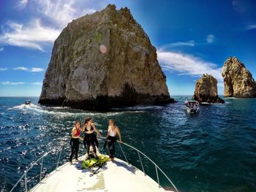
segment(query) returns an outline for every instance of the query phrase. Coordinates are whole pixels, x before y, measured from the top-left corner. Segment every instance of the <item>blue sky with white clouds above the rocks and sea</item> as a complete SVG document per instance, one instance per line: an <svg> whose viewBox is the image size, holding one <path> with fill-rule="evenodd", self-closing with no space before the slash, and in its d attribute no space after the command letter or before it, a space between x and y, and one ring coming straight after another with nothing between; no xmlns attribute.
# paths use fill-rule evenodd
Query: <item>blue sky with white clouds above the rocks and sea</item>
<svg viewBox="0 0 256 192"><path fill-rule="evenodd" d="M72 19L116 4L128 7L157 47L170 95L192 95L204 73L218 80L237 56L256 77L253 0L0 0L0 96L39 96L53 42Z"/></svg>

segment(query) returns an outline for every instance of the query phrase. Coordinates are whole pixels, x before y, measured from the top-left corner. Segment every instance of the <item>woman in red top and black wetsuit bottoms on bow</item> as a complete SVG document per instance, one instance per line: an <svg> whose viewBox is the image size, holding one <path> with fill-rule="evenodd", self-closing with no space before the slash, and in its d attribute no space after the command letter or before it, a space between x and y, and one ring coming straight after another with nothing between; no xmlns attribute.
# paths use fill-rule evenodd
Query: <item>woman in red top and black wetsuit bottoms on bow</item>
<svg viewBox="0 0 256 192"><path fill-rule="evenodd" d="M80 128L80 121L75 121L75 127L72 128L72 137L70 139L70 145L71 145L71 155L69 157L69 162L72 164L72 158L73 155L75 155L75 160L78 161L78 150L79 150L79 139L83 141L83 137L80 137L80 131L82 129Z"/></svg>

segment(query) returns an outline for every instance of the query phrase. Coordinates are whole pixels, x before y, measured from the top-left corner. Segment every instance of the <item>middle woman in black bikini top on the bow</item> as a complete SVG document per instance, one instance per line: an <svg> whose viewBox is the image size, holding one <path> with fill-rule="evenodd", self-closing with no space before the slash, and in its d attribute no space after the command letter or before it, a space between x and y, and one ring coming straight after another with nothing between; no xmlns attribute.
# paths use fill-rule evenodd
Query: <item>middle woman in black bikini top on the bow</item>
<svg viewBox="0 0 256 192"><path fill-rule="evenodd" d="M102 134L99 133L91 118L86 118L85 122L83 123L82 130L86 132L83 139L83 145L86 148L87 154L89 155L90 147L92 147L94 155L97 156L97 150L95 145L97 146L97 148L99 148L99 142L96 135L94 134L94 131L100 137L102 137Z"/></svg>

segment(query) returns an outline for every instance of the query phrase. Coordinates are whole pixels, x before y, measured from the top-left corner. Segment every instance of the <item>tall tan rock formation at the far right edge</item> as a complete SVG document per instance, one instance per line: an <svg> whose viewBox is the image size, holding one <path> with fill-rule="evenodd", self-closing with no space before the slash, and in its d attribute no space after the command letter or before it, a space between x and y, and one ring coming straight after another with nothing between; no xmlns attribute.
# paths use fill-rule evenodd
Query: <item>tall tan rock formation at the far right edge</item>
<svg viewBox="0 0 256 192"><path fill-rule="evenodd" d="M256 97L256 82L238 58L227 58L222 68L222 77L225 97Z"/></svg>

